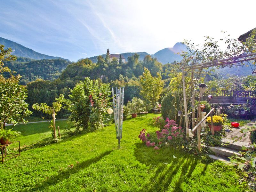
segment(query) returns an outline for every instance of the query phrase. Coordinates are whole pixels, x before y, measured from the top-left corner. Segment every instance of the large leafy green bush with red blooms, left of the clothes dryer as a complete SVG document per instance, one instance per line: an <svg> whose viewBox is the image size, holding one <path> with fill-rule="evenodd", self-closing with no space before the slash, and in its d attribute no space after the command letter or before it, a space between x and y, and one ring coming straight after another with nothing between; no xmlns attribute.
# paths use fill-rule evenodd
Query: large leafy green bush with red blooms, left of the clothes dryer
<svg viewBox="0 0 256 192"><path fill-rule="evenodd" d="M102 125L102 119L107 112L110 101L109 84L101 84L86 77L83 82L76 84L70 100L66 100L69 119L75 123L79 130L96 130Z"/></svg>

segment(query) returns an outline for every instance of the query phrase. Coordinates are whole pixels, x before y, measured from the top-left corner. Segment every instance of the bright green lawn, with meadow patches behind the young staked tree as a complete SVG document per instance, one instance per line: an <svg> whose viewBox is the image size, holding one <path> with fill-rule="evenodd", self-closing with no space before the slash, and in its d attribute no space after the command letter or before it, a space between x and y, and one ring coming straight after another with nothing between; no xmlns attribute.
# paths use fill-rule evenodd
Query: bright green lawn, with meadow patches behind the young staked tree
<svg viewBox="0 0 256 192"><path fill-rule="evenodd" d="M118 150L114 124L29 149L1 164L1 191L246 191L240 172L221 162L170 147L154 151L142 144L142 128L155 131L149 117L123 125ZM62 130L68 127L60 122ZM48 124L17 126L21 145L50 137ZM45 134L45 135L44 135ZM176 158L174 158L176 156Z"/></svg>

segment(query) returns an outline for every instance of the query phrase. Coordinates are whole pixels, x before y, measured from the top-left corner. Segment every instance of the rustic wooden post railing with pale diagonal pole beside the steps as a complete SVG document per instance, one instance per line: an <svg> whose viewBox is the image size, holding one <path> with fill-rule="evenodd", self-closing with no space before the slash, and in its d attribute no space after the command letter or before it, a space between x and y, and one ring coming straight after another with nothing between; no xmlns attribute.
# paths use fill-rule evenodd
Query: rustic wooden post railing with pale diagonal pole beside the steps
<svg viewBox="0 0 256 192"><path fill-rule="evenodd" d="M198 105L197 107L197 114L198 114L198 124L192 129L191 132L197 133L197 148L199 153L201 153L201 124L204 122L204 120L210 115L211 116L211 130L212 135L214 135L214 129L213 129L213 120L212 120L212 111L214 108L210 110L210 112L202 119L202 113L201 113L201 105Z"/></svg>

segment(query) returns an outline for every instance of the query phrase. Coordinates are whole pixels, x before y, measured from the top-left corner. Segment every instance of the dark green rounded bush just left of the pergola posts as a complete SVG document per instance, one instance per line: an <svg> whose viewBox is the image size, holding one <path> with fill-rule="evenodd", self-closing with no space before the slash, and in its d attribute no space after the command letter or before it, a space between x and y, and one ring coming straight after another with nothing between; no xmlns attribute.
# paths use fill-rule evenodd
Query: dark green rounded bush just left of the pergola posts
<svg viewBox="0 0 256 192"><path fill-rule="evenodd" d="M178 110L180 110L179 98L175 98L171 92L165 94L162 100L161 113L164 119L176 119Z"/></svg>

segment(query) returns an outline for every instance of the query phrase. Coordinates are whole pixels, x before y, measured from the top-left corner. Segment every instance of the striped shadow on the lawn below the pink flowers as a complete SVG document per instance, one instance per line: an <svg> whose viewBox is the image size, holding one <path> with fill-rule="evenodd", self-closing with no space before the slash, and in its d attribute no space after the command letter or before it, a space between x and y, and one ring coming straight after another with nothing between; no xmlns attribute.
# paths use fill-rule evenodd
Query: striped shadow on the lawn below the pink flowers
<svg viewBox="0 0 256 192"><path fill-rule="evenodd" d="M174 158L173 155L177 158ZM155 151L152 147L147 148L142 143L136 144L134 156L138 161L146 164L148 169L156 170L139 191L165 191L170 187L173 188L173 191L183 191L182 183L191 177L198 163L197 157L170 149L170 147ZM207 165L202 174L206 168Z"/></svg>

